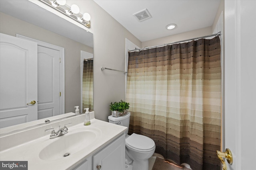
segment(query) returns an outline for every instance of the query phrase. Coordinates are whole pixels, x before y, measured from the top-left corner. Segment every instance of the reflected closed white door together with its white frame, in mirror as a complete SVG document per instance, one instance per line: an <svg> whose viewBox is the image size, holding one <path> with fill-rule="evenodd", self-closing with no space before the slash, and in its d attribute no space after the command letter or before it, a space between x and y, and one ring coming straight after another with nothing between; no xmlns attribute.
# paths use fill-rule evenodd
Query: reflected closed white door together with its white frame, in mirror
<svg viewBox="0 0 256 170"><path fill-rule="evenodd" d="M65 113L64 48L23 35L38 44L38 119Z"/></svg>

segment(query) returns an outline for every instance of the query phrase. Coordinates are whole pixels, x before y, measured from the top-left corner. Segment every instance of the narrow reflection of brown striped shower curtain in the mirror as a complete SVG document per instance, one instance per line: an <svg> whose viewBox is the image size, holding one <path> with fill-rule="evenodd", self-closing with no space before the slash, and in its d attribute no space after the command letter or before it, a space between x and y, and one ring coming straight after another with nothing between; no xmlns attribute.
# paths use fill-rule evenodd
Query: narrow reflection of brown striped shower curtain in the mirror
<svg viewBox="0 0 256 170"><path fill-rule="evenodd" d="M93 110L93 59L84 60L82 95L82 110Z"/></svg>

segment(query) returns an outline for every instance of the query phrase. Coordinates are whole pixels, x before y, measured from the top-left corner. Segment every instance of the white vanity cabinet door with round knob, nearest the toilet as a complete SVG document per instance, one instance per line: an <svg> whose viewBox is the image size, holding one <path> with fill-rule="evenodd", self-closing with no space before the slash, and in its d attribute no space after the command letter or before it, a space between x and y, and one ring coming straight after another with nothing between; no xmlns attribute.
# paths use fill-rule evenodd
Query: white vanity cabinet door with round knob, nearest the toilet
<svg viewBox="0 0 256 170"><path fill-rule="evenodd" d="M125 169L125 135L121 135L104 149L92 156L93 170Z"/></svg>

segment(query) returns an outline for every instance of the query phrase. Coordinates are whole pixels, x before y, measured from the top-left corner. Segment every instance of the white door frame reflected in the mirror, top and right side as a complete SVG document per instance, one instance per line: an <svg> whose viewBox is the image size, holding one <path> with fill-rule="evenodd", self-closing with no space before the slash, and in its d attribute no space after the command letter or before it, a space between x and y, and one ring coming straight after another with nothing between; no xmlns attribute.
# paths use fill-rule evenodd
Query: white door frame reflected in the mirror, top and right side
<svg viewBox="0 0 256 170"><path fill-rule="evenodd" d="M65 48L64 47L59 47L57 45L53 45L50 43L46 43L43 41L39 41L37 39L33 39L30 37L26 37L24 35L20 35L20 34L16 34L16 37L18 38L22 38L22 39L27 39L30 41L34 41L37 43L37 45L42 46L42 47L46 47L46 48L50 48L50 49L54 49L57 51L60 51L60 92L61 92L61 96L60 96L60 114L64 114L65 113Z"/></svg>

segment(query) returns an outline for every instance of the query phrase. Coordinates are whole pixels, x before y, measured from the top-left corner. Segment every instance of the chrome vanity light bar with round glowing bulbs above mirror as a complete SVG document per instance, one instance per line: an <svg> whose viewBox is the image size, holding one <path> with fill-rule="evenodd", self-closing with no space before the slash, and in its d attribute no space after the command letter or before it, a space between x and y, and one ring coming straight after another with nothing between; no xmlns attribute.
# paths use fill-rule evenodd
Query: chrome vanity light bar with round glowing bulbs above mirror
<svg viewBox="0 0 256 170"><path fill-rule="evenodd" d="M71 7L66 4L66 0L40 0L45 4L51 6L52 8L58 10L62 14L72 18L73 20L78 21L87 28L91 27L91 16L88 13L83 15L80 12L79 7L76 4L73 4Z"/></svg>

